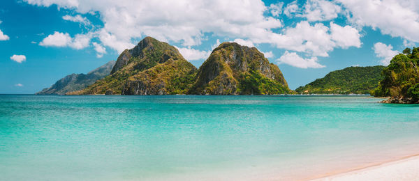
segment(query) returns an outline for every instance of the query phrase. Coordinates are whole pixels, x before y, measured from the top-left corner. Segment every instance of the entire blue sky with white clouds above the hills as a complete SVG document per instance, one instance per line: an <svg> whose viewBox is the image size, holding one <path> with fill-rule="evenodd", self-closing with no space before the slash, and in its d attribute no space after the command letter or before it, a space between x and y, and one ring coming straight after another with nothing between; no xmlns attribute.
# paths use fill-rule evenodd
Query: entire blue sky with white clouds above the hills
<svg viewBox="0 0 419 181"><path fill-rule="evenodd" d="M0 93L36 93L152 36L197 68L221 42L256 47L295 89L388 65L419 42L417 0L2 0Z"/></svg>

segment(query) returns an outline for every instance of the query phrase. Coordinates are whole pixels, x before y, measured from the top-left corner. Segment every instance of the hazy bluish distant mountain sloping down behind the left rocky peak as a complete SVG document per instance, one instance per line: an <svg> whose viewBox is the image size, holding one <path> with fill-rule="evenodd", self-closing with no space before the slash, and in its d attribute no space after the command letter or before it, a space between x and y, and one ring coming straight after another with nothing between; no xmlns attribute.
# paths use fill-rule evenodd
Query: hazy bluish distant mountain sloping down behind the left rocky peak
<svg viewBox="0 0 419 181"><path fill-rule="evenodd" d="M44 88L42 91L36 93L37 95L64 95L71 91L80 91L91 84L94 84L98 79L102 79L107 76L112 67L115 65L115 61L110 61L105 65L102 65L95 70L87 74L69 74L66 77L59 79L50 88Z"/></svg>

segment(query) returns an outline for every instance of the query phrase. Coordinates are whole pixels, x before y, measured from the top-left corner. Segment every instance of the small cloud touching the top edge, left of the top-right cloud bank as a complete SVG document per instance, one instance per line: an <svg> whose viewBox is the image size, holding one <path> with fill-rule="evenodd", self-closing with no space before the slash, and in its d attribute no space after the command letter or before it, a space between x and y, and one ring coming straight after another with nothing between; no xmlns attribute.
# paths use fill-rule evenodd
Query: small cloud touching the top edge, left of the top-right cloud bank
<svg viewBox="0 0 419 181"><path fill-rule="evenodd" d="M308 0L302 17L306 17L309 22L328 21L335 19L339 13L341 13L341 6L332 1Z"/></svg>

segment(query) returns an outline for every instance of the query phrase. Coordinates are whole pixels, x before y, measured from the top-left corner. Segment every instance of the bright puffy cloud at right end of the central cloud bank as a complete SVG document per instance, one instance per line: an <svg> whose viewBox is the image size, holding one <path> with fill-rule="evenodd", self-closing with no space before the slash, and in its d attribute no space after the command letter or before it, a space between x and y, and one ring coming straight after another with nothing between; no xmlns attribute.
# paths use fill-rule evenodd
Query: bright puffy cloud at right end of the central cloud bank
<svg viewBox="0 0 419 181"><path fill-rule="evenodd" d="M339 26L330 22L330 31L332 32L332 40L337 46L342 48L361 47L360 33L352 26Z"/></svg>

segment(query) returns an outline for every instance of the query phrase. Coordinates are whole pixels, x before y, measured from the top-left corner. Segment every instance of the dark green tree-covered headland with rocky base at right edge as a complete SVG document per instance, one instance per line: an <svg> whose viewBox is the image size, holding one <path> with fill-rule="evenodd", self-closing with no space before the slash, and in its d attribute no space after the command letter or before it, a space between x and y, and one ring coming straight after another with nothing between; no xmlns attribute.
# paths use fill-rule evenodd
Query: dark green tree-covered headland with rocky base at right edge
<svg viewBox="0 0 419 181"><path fill-rule="evenodd" d="M419 47L403 51L392 58L382 72L378 88L372 95L388 97L385 103L419 104Z"/></svg>

